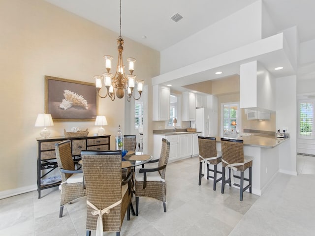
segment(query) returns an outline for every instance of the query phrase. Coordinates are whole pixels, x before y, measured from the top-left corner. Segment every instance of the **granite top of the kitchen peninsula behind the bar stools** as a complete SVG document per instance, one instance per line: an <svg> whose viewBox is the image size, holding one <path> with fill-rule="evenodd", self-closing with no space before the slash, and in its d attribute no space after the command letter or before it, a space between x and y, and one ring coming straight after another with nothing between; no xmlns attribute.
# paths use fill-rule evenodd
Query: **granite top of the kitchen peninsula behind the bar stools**
<svg viewBox="0 0 315 236"><path fill-rule="evenodd" d="M225 137L224 137L225 138ZM243 135L238 134L235 138L228 138L228 139L238 139L244 140L244 146L252 146L252 147L259 147L259 148L274 148L283 142L287 141L289 138L277 138L275 135L267 135L267 134L250 134L250 135ZM221 137L217 137L217 142L221 142Z"/></svg>

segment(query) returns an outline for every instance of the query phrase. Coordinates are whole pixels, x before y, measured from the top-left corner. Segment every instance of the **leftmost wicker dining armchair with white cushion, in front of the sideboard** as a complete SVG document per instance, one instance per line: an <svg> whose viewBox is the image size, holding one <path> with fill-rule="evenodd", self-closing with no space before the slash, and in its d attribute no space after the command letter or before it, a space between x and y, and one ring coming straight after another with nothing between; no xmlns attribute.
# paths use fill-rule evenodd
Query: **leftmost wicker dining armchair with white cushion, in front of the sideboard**
<svg viewBox="0 0 315 236"><path fill-rule="evenodd" d="M55 144L56 159L62 179L60 184L61 200L59 217L63 217L63 206L86 196L82 170L75 170L71 153L71 141L64 140Z"/></svg>

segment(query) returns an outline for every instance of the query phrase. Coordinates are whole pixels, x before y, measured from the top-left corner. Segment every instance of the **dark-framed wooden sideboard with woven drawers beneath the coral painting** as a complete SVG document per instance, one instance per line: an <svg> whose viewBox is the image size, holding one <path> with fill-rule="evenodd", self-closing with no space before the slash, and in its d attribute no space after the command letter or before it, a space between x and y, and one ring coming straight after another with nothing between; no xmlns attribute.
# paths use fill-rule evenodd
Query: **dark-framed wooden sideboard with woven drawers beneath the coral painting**
<svg viewBox="0 0 315 236"><path fill-rule="evenodd" d="M109 150L110 135L87 136L87 137L50 137L47 139L37 138L37 190L38 198L40 191L46 188L59 186L60 181L52 184L41 184L41 180L49 173L58 168L55 152L55 144L63 140L71 140L71 151L75 163L81 159L81 150ZM45 171L44 171L45 170Z"/></svg>

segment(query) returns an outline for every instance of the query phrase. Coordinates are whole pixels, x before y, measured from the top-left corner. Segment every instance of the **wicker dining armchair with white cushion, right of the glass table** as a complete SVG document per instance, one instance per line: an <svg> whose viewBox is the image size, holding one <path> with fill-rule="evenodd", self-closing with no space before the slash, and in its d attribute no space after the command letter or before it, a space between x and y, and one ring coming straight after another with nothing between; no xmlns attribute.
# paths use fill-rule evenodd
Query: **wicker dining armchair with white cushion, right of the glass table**
<svg viewBox="0 0 315 236"><path fill-rule="evenodd" d="M139 197L151 197L162 201L164 212L166 212L165 172L169 157L169 145L168 140L162 139L159 159L149 162L158 162L157 168L135 170L136 215L138 215Z"/></svg>

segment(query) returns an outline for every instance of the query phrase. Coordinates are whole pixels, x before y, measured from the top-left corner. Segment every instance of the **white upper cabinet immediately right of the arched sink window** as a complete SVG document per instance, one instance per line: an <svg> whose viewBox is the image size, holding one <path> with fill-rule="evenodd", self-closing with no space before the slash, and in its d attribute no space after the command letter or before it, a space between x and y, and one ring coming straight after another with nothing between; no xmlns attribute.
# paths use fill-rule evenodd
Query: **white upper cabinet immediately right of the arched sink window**
<svg viewBox="0 0 315 236"><path fill-rule="evenodd" d="M191 121L196 119L196 96L192 92L182 93L182 120Z"/></svg>

